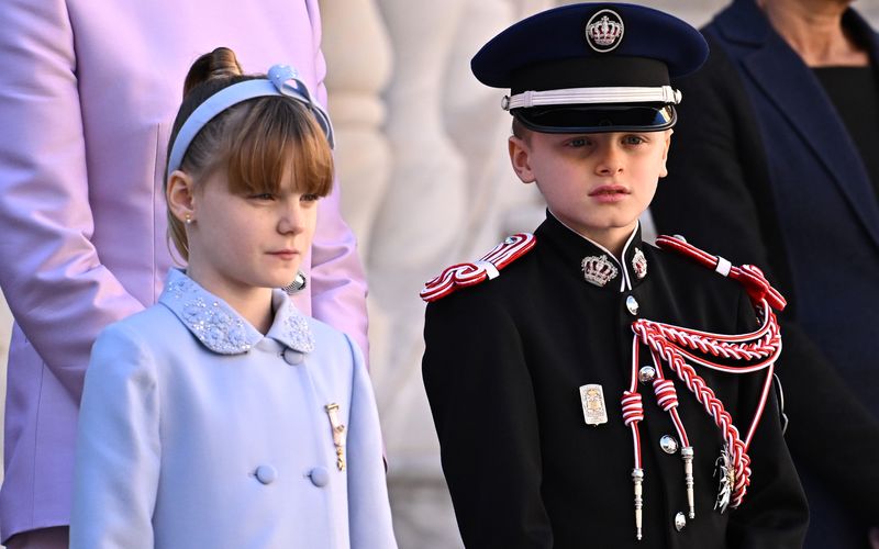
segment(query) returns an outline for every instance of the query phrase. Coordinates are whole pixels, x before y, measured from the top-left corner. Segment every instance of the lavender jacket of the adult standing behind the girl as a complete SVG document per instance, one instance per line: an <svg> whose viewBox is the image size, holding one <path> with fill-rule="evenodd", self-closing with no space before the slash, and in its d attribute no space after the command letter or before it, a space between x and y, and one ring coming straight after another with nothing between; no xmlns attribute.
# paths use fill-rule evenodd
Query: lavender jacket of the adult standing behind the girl
<svg viewBox="0 0 879 549"><path fill-rule="evenodd" d="M108 324L171 266L162 179L192 61L298 68L326 103L316 0L0 0L0 287L9 355L0 540L68 524L78 403ZM366 287L338 194L323 200L300 311L366 350ZM307 292L305 292L307 293Z"/></svg>

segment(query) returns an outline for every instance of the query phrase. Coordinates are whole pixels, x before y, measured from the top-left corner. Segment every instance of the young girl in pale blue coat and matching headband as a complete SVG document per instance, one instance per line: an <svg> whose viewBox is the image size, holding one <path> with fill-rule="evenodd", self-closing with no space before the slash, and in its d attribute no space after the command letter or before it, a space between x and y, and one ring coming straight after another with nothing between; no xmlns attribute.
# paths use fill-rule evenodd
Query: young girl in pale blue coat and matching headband
<svg viewBox="0 0 879 549"><path fill-rule="evenodd" d="M79 418L71 548L393 548L358 347L285 291L333 181L296 72L200 57L168 148L158 303L108 327Z"/></svg>

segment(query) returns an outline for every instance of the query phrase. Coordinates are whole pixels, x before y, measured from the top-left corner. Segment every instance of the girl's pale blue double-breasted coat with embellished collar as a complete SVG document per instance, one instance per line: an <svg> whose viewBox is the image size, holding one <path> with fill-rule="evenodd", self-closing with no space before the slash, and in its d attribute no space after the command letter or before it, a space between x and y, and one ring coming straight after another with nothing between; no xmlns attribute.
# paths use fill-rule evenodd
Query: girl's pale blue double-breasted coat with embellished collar
<svg viewBox="0 0 879 549"><path fill-rule="evenodd" d="M86 374L70 547L394 548L371 385L341 332L276 290L262 335L171 270ZM324 406L347 427L340 471Z"/></svg>

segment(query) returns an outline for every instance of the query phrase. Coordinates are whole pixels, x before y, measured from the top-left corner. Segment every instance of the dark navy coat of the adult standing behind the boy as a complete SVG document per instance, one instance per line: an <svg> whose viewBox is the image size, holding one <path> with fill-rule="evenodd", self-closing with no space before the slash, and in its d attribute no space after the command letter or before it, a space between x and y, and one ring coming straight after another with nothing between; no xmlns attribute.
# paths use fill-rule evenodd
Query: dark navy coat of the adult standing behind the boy
<svg viewBox="0 0 879 549"><path fill-rule="evenodd" d="M877 34L852 10L844 24L876 67ZM806 547L866 547L879 524L879 203L820 81L753 0L703 32L711 57L675 82L683 101L652 212L663 233L760 266L788 298L779 376Z"/></svg>

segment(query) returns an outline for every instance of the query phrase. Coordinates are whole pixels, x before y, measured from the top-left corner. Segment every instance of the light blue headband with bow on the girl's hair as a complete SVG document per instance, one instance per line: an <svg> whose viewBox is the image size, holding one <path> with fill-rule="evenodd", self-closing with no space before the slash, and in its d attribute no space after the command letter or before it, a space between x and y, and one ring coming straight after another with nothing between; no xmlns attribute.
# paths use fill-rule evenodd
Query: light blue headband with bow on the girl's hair
<svg viewBox="0 0 879 549"><path fill-rule="evenodd" d="M304 104L314 113L318 124L321 125L323 133L326 135L326 141L330 142L330 147L333 147L335 143L330 115L316 101L311 99L308 87L297 77L296 70L287 65L275 65L268 69L267 76L268 79L245 80L223 88L192 111L192 114L186 119L186 122L177 133L177 138L174 141L174 147L171 147L171 154L168 158L168 171L165 177L169 178L174 170L180 168L189 145L208 122L230 107L254 98L286 96Z"/></svg>

